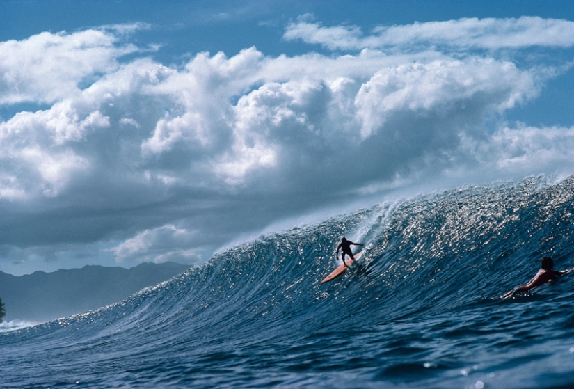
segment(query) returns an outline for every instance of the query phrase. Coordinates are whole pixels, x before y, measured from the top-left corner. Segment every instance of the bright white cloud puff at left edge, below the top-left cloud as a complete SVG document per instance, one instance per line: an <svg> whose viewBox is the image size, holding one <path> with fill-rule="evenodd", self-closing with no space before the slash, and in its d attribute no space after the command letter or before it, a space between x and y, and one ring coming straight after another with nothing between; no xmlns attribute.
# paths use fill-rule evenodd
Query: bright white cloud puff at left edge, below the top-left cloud
<svg viewBox="0 0 574 389"><path fill-rule="evenodd" d="M109 118L99 111L81 115L69 100L0 122L0 174L12 177L0 184L0 190L10 198L58 195L75 173L90 167L90 159L70 143L102 127L109 127Z"/></svg>

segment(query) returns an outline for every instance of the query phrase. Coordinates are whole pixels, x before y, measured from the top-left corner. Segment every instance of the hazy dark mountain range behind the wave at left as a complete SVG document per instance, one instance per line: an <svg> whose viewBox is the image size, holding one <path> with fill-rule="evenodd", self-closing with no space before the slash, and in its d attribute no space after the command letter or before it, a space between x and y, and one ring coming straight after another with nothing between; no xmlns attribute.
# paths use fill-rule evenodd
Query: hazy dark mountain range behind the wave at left
<svg viewBox="0 0 574 389"><path fill-rule="evenodd" d="M122 301L139 290L177 276L189 265L143 263L131 269L85 266L13 276L0 271L4 321L49 321Z"/></svg>

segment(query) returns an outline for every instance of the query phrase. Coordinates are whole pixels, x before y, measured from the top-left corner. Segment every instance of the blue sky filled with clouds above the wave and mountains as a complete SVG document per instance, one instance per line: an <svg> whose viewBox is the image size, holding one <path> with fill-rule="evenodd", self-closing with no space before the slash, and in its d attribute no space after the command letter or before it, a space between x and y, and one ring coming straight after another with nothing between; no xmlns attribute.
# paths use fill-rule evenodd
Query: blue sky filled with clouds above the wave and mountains
<svg viewBox="0 0 574 389"><path fill-rule="evenodd" d="M3 0L0 271L568 177L573 67L569 0Z"/></svg>

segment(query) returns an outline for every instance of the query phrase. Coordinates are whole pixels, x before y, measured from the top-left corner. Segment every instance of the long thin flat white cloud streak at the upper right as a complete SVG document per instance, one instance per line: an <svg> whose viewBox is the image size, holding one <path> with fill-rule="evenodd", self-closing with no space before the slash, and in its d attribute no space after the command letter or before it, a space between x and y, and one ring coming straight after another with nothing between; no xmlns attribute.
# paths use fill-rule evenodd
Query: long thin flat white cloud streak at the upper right
<svg viewBox="0 0 574 389"><path fill-rule="evenodd" d="M425 22L406 26L379 26L364 35L357 26L324 27L308 18L289 24L283 38L303 40L328 49L360 50L417 45L447 45L484 49L531 46L571 47L574 22L523 16L518 19L463 18L445 22Z"/></svg>

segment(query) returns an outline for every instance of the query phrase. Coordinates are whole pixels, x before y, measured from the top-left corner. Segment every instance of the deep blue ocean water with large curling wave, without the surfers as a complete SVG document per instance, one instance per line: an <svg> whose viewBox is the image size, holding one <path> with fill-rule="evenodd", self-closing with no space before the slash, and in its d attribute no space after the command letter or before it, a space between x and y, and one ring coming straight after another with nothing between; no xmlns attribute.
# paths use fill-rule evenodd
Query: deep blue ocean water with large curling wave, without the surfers
<svg viewBox="0 0 574 389"><path fill-rule="evenodd" d="M574 177L382 201L0 333L1 388L574 388ZM365 243L337 267L342 236ZM10 328L8 328L10 329Z"/></svg>

